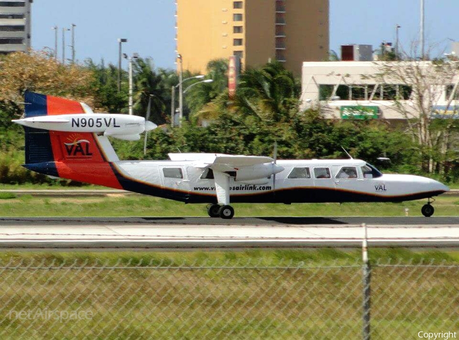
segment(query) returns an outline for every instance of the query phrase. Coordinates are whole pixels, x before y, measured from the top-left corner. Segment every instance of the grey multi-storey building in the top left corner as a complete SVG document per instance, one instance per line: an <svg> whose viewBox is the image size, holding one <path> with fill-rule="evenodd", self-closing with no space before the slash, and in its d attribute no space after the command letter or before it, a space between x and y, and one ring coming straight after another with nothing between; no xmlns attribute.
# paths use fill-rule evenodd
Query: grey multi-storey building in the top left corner
<svg viewBox="0 0 459 340"><path fill-rule="evenodd" d="M0 53L29 50L32 2L33 0L0 1Z"/></svg>

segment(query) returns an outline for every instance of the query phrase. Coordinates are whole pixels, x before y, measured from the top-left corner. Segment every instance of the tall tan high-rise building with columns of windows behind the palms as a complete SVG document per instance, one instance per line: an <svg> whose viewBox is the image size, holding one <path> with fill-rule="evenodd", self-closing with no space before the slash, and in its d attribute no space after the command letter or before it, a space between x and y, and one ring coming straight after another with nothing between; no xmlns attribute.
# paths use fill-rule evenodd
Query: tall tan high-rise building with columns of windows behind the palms
<svg viewBox="0 0 459 340"><path fill-rule="evenodd" d="M176 0L176 52L185 70L238 55L242 68L269 60L300 74L328 55L328 0Z"/></svg>

